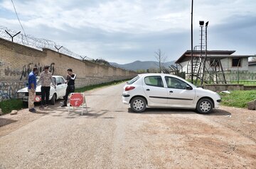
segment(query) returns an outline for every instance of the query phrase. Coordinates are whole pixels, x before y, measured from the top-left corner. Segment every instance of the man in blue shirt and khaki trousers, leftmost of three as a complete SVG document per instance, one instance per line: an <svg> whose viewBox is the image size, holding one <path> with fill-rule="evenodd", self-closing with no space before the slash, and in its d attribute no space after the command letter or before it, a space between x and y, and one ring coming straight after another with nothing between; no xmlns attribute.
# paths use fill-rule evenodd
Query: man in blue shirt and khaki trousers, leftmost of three
<svg viewBox="0 0 256 169"><path fill-rule="evenodd" d="M28 110L30 112L36 112L33 104L36 97L36 74L38 74L38 68L34 67L28 75Z"/></svg>

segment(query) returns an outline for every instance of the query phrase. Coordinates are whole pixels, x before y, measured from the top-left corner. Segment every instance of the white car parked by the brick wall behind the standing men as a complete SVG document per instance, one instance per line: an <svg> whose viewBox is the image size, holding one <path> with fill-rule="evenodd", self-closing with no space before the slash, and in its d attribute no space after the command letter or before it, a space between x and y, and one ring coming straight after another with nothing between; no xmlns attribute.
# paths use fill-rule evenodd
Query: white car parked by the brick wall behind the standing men
<svg viewBox="0 0 256 169"><path fill-rule="evenodd" d="M37 82L38 82L38 78ZM63 98L65 96L65 90L67 88L67 84L65 83L65 78L63 76L53 76L53 81L55 82L56 88L54 86L50 86L50 104L54 105L55 100ZM21 88L18 92L18 98L22 98L23 103L28 103L28 87ZM41 84L38 83L36 86L36 96L41 97ZM40 100L35 100L35 102L40 102Z"/></svg>

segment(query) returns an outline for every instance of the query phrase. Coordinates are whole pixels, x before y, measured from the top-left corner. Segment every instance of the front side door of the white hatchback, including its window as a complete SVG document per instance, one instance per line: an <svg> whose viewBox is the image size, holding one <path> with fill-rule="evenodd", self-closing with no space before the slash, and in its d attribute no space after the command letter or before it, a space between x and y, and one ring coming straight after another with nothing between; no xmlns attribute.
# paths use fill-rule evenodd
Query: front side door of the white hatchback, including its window
<svg viewBox="0 0 256 169"><path fill-rule="evenodd" d="M170 107L191 107L196 91L181 79L165 76ZM190 88L189 88L190 87Z"/></svg>

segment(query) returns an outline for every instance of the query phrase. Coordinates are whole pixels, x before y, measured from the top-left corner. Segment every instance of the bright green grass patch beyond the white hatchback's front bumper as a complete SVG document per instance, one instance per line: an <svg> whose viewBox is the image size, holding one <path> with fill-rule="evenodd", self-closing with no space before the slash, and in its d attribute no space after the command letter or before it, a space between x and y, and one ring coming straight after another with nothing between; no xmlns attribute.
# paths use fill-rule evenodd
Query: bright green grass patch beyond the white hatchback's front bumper
<svg viewBox="0 0 256 169"><path fill-rule="evenodd" d="M247 107L247 102L256 99L256 91L230 91L230 94L219 93L221 96L221 105L231 107Z"/></svg>

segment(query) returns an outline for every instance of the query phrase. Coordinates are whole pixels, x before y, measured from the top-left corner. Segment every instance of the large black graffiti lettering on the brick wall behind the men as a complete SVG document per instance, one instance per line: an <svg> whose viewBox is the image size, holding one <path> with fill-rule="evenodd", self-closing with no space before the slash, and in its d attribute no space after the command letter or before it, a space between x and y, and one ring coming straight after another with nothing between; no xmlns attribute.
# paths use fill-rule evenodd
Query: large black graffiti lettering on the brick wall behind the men
<svg viewBox="0 0 256 169"><path fill-rule="evenodd" d="M21 81L22 79L27 79L28 74L32 71L33 67L37 67L39 74L43 71L43 66L40 63L38 64L33 64L33 63L28 63L22 66L21 70L18 69L10 69L9 66L7 66L7 69L4 69L4 74L6 76L20 76L19 80ZM55 72L55 63L50 64L50 69L49 71L54 74Z"/></svg>

